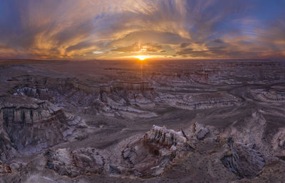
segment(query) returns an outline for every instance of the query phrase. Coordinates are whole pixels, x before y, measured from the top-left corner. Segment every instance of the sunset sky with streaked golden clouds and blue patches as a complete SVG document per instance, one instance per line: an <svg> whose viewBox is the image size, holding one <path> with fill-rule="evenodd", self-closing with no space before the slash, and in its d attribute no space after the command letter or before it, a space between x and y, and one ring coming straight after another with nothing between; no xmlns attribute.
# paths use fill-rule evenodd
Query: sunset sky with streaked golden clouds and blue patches
<svg viewBox="0 0 285 183"><path fill-rule="evenodd" d="M0 57L285 58L285 0L0 0Z"/></svg>

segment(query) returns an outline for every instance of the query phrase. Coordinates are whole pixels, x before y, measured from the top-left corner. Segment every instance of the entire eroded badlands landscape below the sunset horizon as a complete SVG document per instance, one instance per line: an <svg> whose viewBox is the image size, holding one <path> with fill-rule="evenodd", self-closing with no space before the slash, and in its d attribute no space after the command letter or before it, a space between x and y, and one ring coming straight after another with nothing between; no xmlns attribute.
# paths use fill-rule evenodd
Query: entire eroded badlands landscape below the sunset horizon
<svg viewBox="0 0 285 183"><path fill-rule="evenodd" d="M284 182L280 60L0 61L0 182Z"/></svg>

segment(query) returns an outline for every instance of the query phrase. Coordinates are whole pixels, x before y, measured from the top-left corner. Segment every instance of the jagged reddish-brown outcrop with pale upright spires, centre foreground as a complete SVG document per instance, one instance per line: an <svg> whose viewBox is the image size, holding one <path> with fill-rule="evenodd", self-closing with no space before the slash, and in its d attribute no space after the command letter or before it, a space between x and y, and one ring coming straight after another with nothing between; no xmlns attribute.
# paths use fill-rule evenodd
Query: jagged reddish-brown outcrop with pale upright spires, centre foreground
<svg viewBox="0 0 285 183"><path fill-rule="evenodd" d="M182 131L153 126L143 138L127 145L122 155L139 176L157 176L175 158L177 150L185 148L186 142Z"/></svg>

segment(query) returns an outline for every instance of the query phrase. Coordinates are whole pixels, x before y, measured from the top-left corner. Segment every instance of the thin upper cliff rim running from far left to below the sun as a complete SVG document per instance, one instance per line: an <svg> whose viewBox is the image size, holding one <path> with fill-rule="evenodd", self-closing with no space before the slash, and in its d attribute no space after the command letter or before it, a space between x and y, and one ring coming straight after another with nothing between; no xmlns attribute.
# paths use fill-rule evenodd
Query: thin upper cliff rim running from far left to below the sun
<svg viewBox="0 0 285 183"><path fill-rule="evenodd" d="M16 87L15 90L19 94L26 94L27 96L40 97L41 99L48 99L49 92L58 92L58 94L68 96L71 91L84 92L98 96L103 92L111 94L114 91L153 91L153 88L147 82L112 82L108 85L90 86L75 78L51 78L24 75L21 77L14 77L9 79L10 82L20 82L21 86ZM51 93L49 93L51 97Z"/></svg>

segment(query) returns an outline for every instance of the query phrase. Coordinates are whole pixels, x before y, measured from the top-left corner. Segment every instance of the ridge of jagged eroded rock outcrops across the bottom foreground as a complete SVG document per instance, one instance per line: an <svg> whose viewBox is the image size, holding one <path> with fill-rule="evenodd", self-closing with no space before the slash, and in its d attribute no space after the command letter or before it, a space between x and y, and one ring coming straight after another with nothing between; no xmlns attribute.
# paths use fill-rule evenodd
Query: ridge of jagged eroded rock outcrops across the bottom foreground
<svg viewBox="0 0 285 183"><path fill-rule="evenodd" d="M189 135L186 135L187 133ZM120 159L120 157L110 158L104 155L102 150L82 148L48 150L46 165L56 170L58 174L69 177L95 173L133 174L150 178L169 176L165 173L170 170L176 171L177 162L192 161L195 157L203 155L199 166L210 163L213 168L228 172L226 175L229 179L232 179L232 174L240 178L252 179L257 177L266 165L264 158L254 145L235 142L230 137L222 138L217 129L212 126L194 123L187 133L182 130L173 131L165 127L153 126L141 138L125 144L121 152L123 158L117 164L110 160ZM218 158L219 161L212 162L213 157ZM185 167L185 171L191 171L195 166L195 164L189 165ZM219 174L209 174L209 177L216 180L221 178Z"/></svg>

